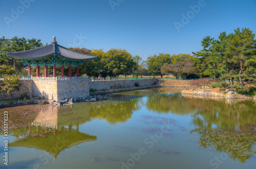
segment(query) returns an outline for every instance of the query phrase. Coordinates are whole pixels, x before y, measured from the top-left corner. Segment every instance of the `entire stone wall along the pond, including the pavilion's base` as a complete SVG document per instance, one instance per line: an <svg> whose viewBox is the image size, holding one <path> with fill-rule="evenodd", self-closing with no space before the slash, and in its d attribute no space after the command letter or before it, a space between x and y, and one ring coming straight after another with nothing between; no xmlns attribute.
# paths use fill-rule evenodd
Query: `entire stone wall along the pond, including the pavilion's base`
<svg viewBox="0 0 256 169"><path fill-rule="evenodd" d="M123 89L135 87L138 82L139 87L147 87L158 84L158 79L130 79L130 80L104 80L89 81L86 79L76 80L40 80L23 79L20 80L20 90L14 91L12 95L0 93L1 99L18 98L21 94L27 93L29 96L36 96L46 100L63 100L65 98L83 98L90 95L90 89L97 91L110 89Z"/></svg>

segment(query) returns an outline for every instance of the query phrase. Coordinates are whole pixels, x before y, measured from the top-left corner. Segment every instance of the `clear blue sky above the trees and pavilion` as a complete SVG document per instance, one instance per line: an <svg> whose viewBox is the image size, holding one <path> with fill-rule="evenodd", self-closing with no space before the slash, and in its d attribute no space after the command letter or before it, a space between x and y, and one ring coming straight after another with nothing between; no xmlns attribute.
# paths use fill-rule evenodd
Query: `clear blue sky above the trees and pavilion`
<svg viewBox="0 0 256 169"><path fill-rule="evenodd" d="M192 12L195 5L200 10ZM0 0L0 36L36 38L45 45L55 35L65 47L124 48L146 59L199 51L205 36L218 38L237 27L256 33L255 8L256 0ZM190 19L177 29L182 14Z"/></svg>

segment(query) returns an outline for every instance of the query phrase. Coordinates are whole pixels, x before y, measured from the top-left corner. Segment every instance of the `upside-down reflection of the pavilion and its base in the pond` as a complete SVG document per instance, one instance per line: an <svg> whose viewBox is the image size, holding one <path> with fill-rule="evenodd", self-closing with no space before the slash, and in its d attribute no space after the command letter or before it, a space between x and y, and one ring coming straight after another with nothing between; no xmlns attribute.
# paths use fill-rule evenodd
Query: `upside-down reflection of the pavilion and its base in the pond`
<svg viewBox="0 0 256 169"><path fill-rule="evenodd" d="M56 160L62 150L97 140L97 136L80 132L79 123L77 123L76 129L72 128L72 125L67 125L67 118L58 118L57 111L58 108L53 106L42 109L29 127L29 135L10 143L9 147L44 150L52 154ZM60 119L59 123L58 119Z"/></svg>

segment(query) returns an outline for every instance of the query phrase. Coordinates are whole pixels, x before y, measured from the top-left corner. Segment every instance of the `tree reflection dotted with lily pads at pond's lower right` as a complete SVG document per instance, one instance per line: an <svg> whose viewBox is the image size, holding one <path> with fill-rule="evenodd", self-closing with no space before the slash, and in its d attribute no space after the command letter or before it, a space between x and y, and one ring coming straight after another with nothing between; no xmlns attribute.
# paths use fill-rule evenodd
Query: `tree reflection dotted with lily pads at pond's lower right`
<svg viewBox="0 0 256 169"><path fill-rule="evenodd" d="M233 160L246 162L256 156L253 146L256 144L256 123L242 126L240 130L196 129L200 133L199 145L204 149L225 152Z"/></svg>

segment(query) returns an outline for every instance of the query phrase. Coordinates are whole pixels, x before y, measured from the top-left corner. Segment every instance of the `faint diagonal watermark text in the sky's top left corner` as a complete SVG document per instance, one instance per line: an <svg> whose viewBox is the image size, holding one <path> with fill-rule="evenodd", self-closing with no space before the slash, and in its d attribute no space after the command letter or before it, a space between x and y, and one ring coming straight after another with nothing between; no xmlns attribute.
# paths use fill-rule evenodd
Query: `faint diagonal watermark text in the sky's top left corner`
<svg viewBox="0 0 256 169"><path fill-rule="evenodd" d="M23 14L25 12L25 10L30 7L30 3L33 3L35 1L36 0L24 0L24 1L20 0L19 3L21 5L18 6L16 10L14 10L13 8L11 9L11 11L12 11L11 18L7 17L7 16L4 17L6 25L8 27L10 27L10 23L17 20L19 18L20 14Z"/></svg>

